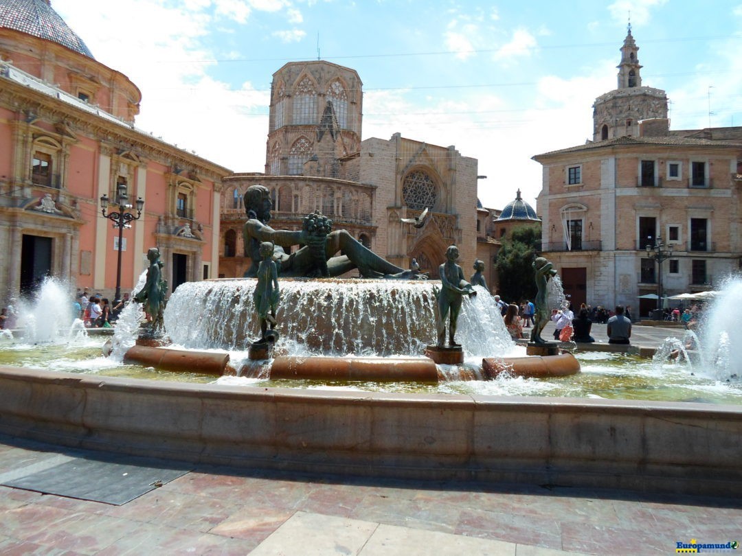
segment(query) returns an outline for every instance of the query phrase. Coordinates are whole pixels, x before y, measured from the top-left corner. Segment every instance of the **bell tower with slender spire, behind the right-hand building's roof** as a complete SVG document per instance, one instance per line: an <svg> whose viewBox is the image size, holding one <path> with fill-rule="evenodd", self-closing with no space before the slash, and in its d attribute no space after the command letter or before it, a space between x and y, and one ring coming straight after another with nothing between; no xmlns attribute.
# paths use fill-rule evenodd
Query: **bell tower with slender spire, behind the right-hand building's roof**
<svg viewBox="0 0 742 556"><path fill-rule="evenodd" d="M617 66L618 88L599 96L593 105L594 141L637 136L641 120L667 119L665 91L642 86L638 52L629 25L621 47L621 62Z"/></svg>

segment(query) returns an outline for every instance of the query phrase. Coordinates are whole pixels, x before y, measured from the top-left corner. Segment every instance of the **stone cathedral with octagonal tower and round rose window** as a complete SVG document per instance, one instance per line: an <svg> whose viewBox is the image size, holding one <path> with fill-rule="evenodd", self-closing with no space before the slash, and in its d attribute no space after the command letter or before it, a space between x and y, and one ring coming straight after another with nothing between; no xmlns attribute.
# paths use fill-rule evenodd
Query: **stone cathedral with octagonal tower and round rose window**
<svg viewBox="0 0 742 556"><path fill-rule="evenodd" d="M462 265L473 265L476 159L400 133L361 141L362 83L347 67L289 62L273 75L271 89L265 173L223 181L220 276L240 277L249 266L242 196L255 184L271 192L272 228L299 230L303 216L318 210L333 229L346 229L401 268L415 258L437 277L454 243ZM423 227L401 222L426 208Z"/></svg>

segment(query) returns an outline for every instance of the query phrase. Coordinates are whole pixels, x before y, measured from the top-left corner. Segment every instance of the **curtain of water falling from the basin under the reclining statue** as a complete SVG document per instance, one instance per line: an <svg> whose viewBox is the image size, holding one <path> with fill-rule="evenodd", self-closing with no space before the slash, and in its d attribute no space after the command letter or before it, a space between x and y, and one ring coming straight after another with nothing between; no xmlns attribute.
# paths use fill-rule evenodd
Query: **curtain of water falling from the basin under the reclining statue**
<svg viewBox="0 0 742 556"><path fill-rule="evenodd" d="M180 285L165 309L165 329L186 348L245 350L257 339L254 279ZM277 349L292 355L421 355L436 341L435 282L284 279ZM440 285L438 285L440 287ZM470 357L512 347L492 297L464 297L456 339Z"/></svg>

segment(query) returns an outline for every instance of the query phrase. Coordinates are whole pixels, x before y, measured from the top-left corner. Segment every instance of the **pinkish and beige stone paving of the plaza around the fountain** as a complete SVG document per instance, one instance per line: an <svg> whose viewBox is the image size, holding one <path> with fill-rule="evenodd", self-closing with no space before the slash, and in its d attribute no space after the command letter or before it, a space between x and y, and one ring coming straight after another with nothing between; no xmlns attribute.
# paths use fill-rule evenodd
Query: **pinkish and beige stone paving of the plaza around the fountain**
<svg viewBox="0 0 742 556"><path fill-rule="evenodd" d="M0 436L0 483L70 453ZM209 466L122 506L0 486L2 555L644 555L692 539L742 540L741 503Z"/></svg>

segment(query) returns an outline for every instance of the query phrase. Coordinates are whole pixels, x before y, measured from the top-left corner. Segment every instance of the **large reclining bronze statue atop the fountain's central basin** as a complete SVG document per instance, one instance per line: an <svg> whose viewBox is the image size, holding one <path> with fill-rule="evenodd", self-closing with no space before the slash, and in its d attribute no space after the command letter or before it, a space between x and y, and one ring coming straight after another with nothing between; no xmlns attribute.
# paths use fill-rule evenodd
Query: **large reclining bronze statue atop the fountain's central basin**
<svg viewBox="0 0 742 556"><path fill-rule="evenodd" d="M340 276L354 268L358 268L361 277L364 278L424 277L418 271L405 271L382 259L346 230L336 230L326 235L309 234L304 230L274 230L268 225L272 208L270 192L263 185L251 185L243 199L248 216L242 231L245 257L252 259L245 277L257 276L262 242L272 242L275 245L273 259L278 265L278 274L281 277L314 276L318 268L316 258L319 253L324 253L327 271L331 277ZM286 254L283 248L292 245L303 247L295 253ZM334 257L338 253L341 255Z"/></svg>

